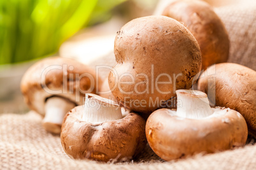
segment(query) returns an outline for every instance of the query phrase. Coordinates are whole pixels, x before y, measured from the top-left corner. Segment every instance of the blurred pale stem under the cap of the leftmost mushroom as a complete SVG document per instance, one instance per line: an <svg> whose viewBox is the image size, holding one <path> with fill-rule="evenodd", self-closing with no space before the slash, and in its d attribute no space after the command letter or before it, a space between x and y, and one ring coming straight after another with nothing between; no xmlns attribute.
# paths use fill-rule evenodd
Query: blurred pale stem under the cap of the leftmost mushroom
<svg viewBox="0 0 256 170"><path fill-rule="evenodd" d="M45 103L45 118L43 119L43 127L46 131L60 133L64 116L75 106L75 103L64 98L57 96L48 98Z"/></svg>

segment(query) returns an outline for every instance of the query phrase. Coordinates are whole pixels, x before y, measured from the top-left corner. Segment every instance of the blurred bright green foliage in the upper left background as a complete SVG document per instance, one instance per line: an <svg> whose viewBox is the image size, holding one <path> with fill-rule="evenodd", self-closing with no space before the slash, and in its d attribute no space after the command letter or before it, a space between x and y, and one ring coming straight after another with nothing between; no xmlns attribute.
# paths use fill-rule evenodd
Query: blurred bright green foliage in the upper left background
<svg viewBox="0 0 256 170"><path fill-rule="evenodd" d="M104 22L125 0L1 0L0 65L56 53L78 30Z"/></svg>

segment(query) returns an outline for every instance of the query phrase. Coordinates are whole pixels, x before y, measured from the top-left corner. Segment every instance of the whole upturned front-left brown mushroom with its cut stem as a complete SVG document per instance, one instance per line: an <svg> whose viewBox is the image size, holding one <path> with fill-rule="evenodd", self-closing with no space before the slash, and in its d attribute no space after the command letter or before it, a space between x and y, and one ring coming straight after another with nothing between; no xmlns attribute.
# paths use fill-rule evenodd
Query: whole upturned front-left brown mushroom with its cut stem
<svg viewBox="0 0 256 170"><path fill-rule="evenodd" d="M85 106L64 118L60 139L73 159L129 160L146 145L145 121L134 113L123 117L115 101L88 94Z"/></svg>

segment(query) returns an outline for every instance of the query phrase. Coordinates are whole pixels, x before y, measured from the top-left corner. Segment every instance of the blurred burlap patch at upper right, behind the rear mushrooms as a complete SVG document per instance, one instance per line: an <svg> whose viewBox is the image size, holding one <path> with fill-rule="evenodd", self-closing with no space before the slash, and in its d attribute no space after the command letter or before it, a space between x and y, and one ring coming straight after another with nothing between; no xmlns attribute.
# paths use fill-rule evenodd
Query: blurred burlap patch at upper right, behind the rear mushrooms
<svg viewBox="0 0 256 170"><path fill-rule="evenodd" d="M256 1L216 8L215 12L229 33L227 62L239 63L256 70Z"/></svg>

